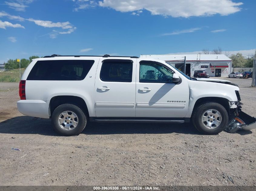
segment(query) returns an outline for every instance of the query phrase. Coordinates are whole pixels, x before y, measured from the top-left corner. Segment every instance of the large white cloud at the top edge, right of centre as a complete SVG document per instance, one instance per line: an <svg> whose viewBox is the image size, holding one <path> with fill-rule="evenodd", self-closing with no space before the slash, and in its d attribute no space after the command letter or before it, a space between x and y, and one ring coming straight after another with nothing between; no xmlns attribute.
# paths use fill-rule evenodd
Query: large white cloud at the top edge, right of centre
<svg viewBox="0 0 256 191"><path fill-rule="evenodd" d="M211 16L214 14L229 15L241 10L241 2L233 0L102 0L101 7L113 8L121 12L135 12L146 9L152 15L171 17Z"/></svg>

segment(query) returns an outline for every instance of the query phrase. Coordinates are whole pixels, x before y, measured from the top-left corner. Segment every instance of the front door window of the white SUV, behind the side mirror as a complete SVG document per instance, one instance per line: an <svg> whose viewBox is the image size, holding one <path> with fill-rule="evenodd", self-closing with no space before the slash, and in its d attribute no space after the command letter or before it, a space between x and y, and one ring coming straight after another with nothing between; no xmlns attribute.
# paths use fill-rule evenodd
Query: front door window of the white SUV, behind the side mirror
<svg viewBox="0 0 256 191"><path fill-rule="evenodd" d="M157 63L140 64L140 82L168 83L172 82L173 72Z"/></svg>

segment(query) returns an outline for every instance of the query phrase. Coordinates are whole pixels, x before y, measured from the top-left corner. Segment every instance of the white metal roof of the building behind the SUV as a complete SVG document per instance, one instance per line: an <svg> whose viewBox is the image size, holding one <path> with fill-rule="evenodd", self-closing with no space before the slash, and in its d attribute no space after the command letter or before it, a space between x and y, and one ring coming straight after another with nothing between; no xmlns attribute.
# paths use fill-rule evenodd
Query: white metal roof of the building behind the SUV
<svg viewBox="0 0 256 191"><path fill-rule="evenodd" d="M152 58L164 61L232 61L224 54L165 54L165 55L141 55L141 58Z"/></svg>

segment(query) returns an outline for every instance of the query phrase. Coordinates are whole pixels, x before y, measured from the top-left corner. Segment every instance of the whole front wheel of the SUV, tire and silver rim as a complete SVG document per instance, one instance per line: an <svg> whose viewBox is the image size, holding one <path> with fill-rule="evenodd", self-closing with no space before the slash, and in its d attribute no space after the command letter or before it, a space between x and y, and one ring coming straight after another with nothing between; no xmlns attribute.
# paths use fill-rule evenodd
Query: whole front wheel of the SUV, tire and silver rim
<svg viewBox="0 0 256 191"><path fill-rule="evenodd" d="M227 126L228 112L219 103L202 103L194 110L192 121L194 127L201 133L215 135Z"/></svg>

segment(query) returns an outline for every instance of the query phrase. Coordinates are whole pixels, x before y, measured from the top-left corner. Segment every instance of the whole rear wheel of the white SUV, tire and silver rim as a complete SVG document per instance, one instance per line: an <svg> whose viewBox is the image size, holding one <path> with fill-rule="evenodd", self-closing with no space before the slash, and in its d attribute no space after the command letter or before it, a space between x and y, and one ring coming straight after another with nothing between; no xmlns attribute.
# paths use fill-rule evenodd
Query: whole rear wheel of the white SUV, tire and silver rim
<svg viewBox="0 0 256 191"><path fill-rule="evenodd" d="M60 135L79 135L85 129L86 123L85 113L74 104L62 104L52 113L53 129Z"/></svg>

